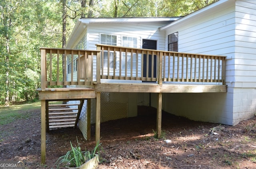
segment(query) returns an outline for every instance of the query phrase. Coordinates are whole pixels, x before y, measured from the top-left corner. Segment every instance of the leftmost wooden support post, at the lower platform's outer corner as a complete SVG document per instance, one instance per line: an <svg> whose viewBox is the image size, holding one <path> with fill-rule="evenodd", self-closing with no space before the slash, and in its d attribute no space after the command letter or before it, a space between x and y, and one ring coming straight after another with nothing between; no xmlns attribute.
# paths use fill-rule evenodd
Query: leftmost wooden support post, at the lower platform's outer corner
<svg viewBox="0 0 256 169"><path fill-rule="evenodd" d="M45 164L46 156L46 101L41 100L41 163Z"/></svg>

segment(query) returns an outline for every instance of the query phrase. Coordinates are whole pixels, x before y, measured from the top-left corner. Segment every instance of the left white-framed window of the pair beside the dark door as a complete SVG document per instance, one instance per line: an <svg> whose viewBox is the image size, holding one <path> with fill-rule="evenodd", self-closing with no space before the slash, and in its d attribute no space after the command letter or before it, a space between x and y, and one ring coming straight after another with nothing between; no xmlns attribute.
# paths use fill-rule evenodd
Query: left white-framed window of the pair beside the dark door
<svg viewBox="0 0 256 169"><path fill-rule="evenodd" d="M116 46L116 35L100 35L100 43L103 45L114 45ZM103 67L108 68L108 52L104 51L103 56ZM110 52L109 56L109 67L114 69L114 52Z"/></svg>

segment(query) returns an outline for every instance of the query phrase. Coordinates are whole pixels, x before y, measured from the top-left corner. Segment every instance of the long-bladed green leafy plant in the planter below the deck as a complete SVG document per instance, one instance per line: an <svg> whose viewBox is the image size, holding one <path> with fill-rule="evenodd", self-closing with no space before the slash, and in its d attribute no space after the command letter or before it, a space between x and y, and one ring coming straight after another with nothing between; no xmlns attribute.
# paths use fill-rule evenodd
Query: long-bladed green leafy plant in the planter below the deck
<svg viewBox="0 0 256 169"><path fill-rule="evenodd" d="M60 167L79 167L82 164L84 164L86 161L92 159L93 157L97 157L97 160L99 161L99 156L97 154L99 147L101 147L101 143L99 142L100 141L98 141L98 143L96 144L92 152L90 152L89 150L87 151L81 150L78 139L77 139L78 146L76 145L73 146L70 141L71 150L69 150L66 153L66 155L63 155L58 158L58 160L56 161L57 169L59 169Z"/></svg>

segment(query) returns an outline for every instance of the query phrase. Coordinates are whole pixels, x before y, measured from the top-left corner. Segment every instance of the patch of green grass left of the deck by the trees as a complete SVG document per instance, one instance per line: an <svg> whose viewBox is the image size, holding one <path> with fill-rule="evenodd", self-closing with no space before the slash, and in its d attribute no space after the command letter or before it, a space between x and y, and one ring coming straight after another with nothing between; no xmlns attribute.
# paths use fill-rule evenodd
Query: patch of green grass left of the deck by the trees
<svg viewBox="0 0 256 169"><path fill-rule="evenodd" d="M17 119L30 117L28 111L40 108L40 101L22 105L1 106L0 107L0 125L9 124Z"/></svg>

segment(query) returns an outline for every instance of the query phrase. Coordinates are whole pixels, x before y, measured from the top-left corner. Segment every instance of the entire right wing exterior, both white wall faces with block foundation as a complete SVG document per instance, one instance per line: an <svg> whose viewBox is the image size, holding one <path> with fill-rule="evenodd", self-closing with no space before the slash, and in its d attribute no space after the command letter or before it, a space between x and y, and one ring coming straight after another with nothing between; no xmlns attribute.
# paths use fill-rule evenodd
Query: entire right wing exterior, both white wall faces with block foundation
<svg viewBox="0 0 256 169"><path fill-rule="evenodd" d="M166 29L166 50L168 35L178 31L180 52L227 56L228 92L164 94L164 110L192 120L229 125L256 112L255 3L226 1Z"/></svg>

